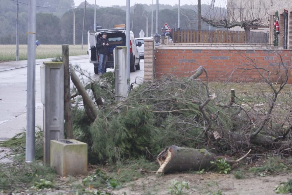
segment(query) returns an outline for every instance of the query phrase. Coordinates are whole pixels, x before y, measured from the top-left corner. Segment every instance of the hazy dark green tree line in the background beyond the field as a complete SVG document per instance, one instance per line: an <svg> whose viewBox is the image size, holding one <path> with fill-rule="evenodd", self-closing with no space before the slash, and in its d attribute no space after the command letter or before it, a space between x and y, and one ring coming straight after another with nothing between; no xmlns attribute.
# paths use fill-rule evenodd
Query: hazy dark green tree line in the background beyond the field
<svg viewBox="0 0 292 195"><path fill-rule="evenodd" d="M28 26L28 0L19 0L18 31L19 44L27 44L27 26ZM205 9L208 8L207 5ZM60 8L60 9L55 9ZM151 36L151 9L152 5L136 4L130 9L130 23L134 14L133 32L135 37L139 37L141 29L146 31L146 17L148 17L148 36ZM155 33L156 6L153 12L153 33ZM180 27L197 28L197 14L194 5L181 6ZM204 8L203 8L204 9ZM74 7L73 0L63 1L58 4L58 0L37 1L36 14L36 39L41 44L73 44L73 11L75 13L76 44L81 44L84 2ZM158 13L158 28L163 27L164 23L171 28L178 25L178 7L170 5L160 5ZM0 1L0 44L16 43L16 1ZM86 5L84 44L87 44L87 31L93 30L94 23L94 5ZM114 24L126 24L126 6L100 7L96 10L97 26L103 29L113 28ZM202 30L209 29L208 24L202 23Z"/></svg>

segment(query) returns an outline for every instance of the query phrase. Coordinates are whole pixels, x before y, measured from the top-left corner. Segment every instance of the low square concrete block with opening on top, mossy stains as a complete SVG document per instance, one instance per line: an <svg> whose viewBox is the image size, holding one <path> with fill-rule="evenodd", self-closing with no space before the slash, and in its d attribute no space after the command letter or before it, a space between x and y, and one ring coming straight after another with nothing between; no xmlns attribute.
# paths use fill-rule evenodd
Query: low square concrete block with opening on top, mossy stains
<svg viewBox="0 0 292 195"><path fill-rule="evenodd" d="M50 164L58 175L87 173L87 144L78 140L51 140Z"/></svg>

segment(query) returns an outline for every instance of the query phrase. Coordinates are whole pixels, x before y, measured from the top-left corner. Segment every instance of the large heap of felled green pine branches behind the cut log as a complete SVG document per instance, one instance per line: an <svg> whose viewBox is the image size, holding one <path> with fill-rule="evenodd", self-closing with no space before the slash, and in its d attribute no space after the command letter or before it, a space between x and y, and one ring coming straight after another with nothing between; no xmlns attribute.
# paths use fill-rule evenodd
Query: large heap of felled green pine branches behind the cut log
<svg viewBox="0 0 292 195"><path fill-rule="evenodd" d="M199 104L207 98L208 90L201 81L168 76L144 82L123 102L99 109L89 128L91 150L99 161L111 162L141 155L152 158L173 144L204 147L206 120ZM217 131L231 129L229 116L214 102L204 111L218 123Z"/></svg>

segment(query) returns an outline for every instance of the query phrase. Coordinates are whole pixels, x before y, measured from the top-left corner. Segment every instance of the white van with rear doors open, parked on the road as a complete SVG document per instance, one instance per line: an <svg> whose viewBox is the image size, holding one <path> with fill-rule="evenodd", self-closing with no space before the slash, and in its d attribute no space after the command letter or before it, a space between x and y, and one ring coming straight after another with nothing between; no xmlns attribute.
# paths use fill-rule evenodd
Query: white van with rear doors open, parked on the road
<svg viewBox="0 0 292 195"><path fill-rule="evenodd" d="M111 44L109 48L109 55L107 56L107 63L105 68L114 68L114 56L113 50L117 46L126 46L126 29L125 28L114 28L114 29L98 29L96 32L89 30L87 32L87 43L88 43L88 58L89 62L94 65L94 73L98 74L98 50L96 49L97 40L102 36L103 33L107 34L107 39ZM141 43L138 45L142 45ZM130 31L130 72L140 70L140 53L138 52L135 36Z"/></svg>

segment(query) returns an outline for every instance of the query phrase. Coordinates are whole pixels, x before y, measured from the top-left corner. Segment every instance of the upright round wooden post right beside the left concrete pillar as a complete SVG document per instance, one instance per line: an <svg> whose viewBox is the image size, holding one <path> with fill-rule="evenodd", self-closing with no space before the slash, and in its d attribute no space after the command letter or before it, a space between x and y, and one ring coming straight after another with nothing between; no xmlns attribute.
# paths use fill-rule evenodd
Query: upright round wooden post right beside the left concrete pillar
<svg viewBox="0 0 292 195"><path fill-rule="evenodd" d="M71 118L71 93L70 93L70 66L69 45L62 45L62 59L64 63L64 106L65 106L65 131L68 139L73 139L73 124Z"/></svg>

